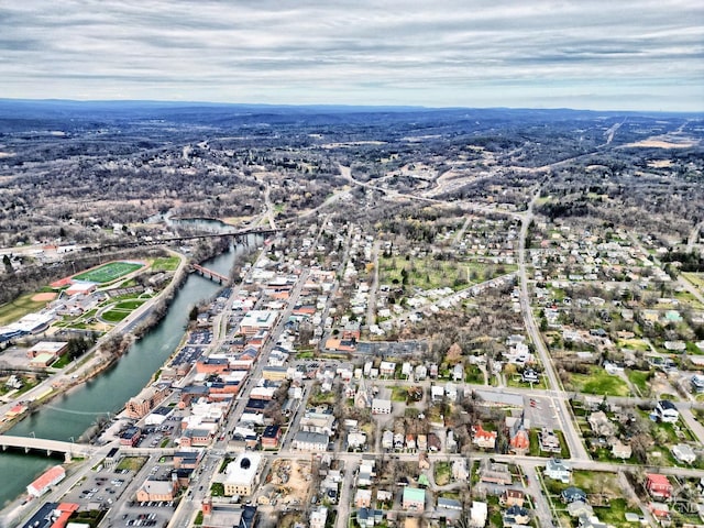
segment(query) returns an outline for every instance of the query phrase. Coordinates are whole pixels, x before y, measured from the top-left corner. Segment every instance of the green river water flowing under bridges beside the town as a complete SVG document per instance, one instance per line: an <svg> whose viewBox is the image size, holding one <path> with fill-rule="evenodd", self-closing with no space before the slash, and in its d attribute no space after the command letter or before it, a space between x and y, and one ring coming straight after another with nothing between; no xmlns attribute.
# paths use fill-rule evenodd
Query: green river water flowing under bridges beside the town
<svg viewBox="0 0 704 528"><path fill-rule="evenodd" d="M245 244L258 244L261 241L261 237L250 235ZM231 248L229 252L206 261L204 265L228 275L235 258L245 250L245 245ZM70 394L53 399L40 411L13 427L8 435L78 440L98 417L113 415L146 385L178 346L190 308L211 298L220 288L220 285L199 275L189 275L174 297L166 317L136 341L114 366ZM57 460L46 457L0 453L0 508L21 495L42 471L56 463Z"/></svg>

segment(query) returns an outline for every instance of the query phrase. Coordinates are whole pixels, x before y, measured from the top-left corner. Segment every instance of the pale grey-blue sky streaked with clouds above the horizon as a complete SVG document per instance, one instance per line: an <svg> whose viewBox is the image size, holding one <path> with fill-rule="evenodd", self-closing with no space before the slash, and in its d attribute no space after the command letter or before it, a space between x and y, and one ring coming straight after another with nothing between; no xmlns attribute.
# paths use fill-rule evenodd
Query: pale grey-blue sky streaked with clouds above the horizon
<svg viewBox="0 0 704 528"><path fill-rule="evenodd" d="M701 0L2 0L0 97L704 110Z"/></svg>

